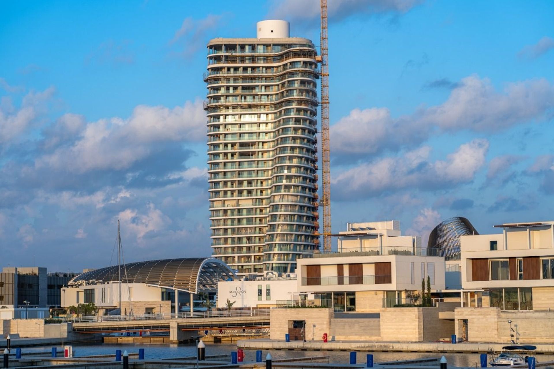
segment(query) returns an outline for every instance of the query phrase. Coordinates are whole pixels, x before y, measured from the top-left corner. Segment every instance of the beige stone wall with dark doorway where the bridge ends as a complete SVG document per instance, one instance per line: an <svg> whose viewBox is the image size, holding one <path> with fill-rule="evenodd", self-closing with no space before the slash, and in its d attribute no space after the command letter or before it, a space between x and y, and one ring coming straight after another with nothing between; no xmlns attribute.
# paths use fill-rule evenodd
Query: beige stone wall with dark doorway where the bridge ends
<svg viewBox="0 0 554 369"><path fill-rule="evenodd" d="M269 338L284 340L289 331L289 321L305 320L306 340L321 340L324 333L331 339L330 324L333 317L333 310L325 308L271 309Z"/></svg>

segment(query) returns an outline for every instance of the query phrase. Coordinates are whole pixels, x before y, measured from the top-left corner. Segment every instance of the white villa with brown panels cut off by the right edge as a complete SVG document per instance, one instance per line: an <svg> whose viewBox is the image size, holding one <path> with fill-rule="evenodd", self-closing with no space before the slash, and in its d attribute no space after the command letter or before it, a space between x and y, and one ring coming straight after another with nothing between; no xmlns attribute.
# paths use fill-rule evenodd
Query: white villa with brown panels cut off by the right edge
<svg viewBox="0 0 554 369"><path fill-rule="evenodd" d="M461 237L463 306L554 309L554 221L495 227Z"/></svg>

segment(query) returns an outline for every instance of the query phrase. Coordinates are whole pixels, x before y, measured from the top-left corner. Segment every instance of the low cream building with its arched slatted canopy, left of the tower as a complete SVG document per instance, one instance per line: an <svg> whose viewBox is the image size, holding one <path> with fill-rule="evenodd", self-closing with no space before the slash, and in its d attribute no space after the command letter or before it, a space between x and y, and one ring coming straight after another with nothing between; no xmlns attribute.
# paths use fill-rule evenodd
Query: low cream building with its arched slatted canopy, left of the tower
<svg viewBox="0 0 554 369"><path fill-rule="evenodd" d="M135 262L80 274L62 290L61 300L67 308L94 304L100 315L178 313L194 311L199 293L213 297L219 280L234 279L216 258Z"/></svg>

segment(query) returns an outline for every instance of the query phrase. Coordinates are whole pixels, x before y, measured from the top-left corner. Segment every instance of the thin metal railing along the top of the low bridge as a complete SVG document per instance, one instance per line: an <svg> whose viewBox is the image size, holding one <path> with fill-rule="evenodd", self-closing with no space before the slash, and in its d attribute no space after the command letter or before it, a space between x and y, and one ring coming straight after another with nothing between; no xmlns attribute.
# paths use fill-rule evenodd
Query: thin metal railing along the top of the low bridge
<svg viewBox="0 0 554 369"><path fill-rule="evenodd" d="M185 311L183 313L163 314L129 314L129 315L94 315L75 316L69 319L73 323L100 323L102 321L134 321L134 320L160 320L160 319L183 319L183 318L228 318L241 316L269 316L271 309L252 310L212 310L212 311Z"/></svg>

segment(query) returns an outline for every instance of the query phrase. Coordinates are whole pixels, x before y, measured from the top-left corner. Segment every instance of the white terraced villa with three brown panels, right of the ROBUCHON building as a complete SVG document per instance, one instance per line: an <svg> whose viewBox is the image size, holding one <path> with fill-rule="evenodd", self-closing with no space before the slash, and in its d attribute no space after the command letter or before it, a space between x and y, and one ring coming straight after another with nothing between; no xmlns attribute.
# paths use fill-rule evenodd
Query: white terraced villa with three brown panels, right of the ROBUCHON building
<svg viewBox="0 0 554 369"><path fill-rule="evenodd" d="M443 257L427 256L419 236L402 236L398 221L349 223L337 250L297 261L297 291L314 293L335 311L371 312L412 303L407 292L445 289Z"/></svg>

